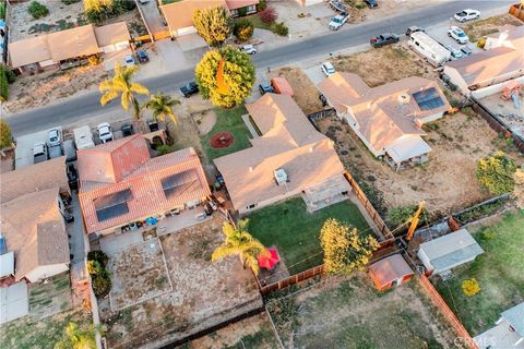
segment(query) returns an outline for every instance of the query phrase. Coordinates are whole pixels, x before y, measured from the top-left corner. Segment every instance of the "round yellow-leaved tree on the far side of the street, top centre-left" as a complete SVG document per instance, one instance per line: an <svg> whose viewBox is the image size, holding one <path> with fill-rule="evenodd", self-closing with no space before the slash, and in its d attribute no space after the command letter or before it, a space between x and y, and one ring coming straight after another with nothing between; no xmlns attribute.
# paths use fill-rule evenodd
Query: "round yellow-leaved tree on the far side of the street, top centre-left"
<svg viewBox="0 0 524 349"><path fill-rule="evenodd" d="M193 25L211 47L219 47L231 35L233 20L223 7L195 10Z"/></svg>

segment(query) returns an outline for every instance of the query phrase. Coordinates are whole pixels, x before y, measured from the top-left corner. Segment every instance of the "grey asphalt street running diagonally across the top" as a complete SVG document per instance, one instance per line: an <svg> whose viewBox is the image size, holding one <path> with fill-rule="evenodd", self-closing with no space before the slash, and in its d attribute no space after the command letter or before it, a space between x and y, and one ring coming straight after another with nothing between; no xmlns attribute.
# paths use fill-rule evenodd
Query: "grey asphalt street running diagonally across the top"
<svg viewBox="0 0 524 349"><path fill-rule="evenodd" d="M422 0L424 1L424 0ZM258 69L278 67L288 62L312 58L319 55L329 55L347 47L362 45L369 41L373 35L385 32L402 34L410 25L429 27L439 23L446 23L453 13L472 8L489 11L509 7L514 1L508 0L483 0L483 1L446 1L434 7L422 8L416 12L404 13L383 21L364 23L352 28L329 33L310 39L291 41L269 51L261 51L253 57ZM402 5L400 3L398 5ZM172 93L186 82L192 80L193 69L167 73L141 81L151 91ZM106 105L99 104L99 94L92 92L78 97L71 97L45 107L31 109L5 117L15 136L49 129L55 125L66 125L84 118L102 115L109 109L121 108L118 100Z"/></svg>

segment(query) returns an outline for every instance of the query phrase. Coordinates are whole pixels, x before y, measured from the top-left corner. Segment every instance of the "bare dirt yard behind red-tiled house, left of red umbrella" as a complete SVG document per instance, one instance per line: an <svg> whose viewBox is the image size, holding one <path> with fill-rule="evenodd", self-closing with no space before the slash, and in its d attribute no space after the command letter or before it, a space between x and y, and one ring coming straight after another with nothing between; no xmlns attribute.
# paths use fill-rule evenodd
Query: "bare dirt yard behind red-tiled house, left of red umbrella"
<svg viewBox="0 0 524 349"><path fill-rule="evenodd" d="M110 348L156 348L262 305L252 275L237 257L216 263L223 218L159 238L172 290L118 312L99 301Z"/></svg>

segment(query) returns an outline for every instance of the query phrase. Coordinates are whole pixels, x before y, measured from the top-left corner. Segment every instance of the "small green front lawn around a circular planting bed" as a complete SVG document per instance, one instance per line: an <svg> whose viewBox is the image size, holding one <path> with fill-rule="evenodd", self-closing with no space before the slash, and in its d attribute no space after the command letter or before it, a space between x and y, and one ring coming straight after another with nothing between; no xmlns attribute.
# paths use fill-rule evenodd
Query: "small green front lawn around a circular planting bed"
<svg viewBox="0 0 524 349"><path fill-rule="evenodd" d="M241 118L242 115L247 112L248 111L246 110L243 105L238 106L234 109L215 108L216 123L207 134L203 135L200 139L202 143L202 148L204 149L210 161L214 158L228 155L251 146L251 143L249 142L249 140L251 139L251 133L249 133L249 130ZM210 139L219 132L233 133L233 144L229 145L227 148L215 149L210 144Z"/></svg>

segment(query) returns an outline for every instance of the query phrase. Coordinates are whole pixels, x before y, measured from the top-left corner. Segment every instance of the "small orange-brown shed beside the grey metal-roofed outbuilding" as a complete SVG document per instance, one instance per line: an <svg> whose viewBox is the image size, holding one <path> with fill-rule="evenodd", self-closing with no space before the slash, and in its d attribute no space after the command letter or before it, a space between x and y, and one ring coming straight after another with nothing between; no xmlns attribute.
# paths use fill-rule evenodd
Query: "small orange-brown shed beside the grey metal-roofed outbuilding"
<svg viewBox="0 0 524 349"><path fill-rule="evenodd" d="M413 270L401 254L394 254L373 263L369 276L379 291L398 286L413 277Z"/></svg>

